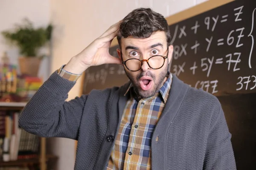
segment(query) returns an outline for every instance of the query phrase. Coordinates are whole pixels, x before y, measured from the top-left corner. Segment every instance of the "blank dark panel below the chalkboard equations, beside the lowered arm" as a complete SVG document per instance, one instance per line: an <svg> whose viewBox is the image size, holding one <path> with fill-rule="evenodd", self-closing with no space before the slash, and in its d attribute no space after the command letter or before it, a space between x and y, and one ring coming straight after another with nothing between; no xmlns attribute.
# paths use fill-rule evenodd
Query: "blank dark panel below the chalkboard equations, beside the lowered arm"
<svg viewBox="0 0 256 170"><path fill-rule="evenodd" d="M256 169L256 93L218 96L232 134L237 170Z"/></svg>

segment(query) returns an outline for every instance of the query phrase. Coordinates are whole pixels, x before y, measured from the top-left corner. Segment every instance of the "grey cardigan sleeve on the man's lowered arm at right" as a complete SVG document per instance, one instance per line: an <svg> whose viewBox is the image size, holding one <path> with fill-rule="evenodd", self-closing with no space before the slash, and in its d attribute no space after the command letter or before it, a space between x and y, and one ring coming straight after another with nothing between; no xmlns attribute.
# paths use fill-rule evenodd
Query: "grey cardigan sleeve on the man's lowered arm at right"
<svg viewBox="0 0 256 170"><path fill-rule="evenodd" d="M231 133L220 103L218 107L218 114L209 130L204 170L236 170Z"/></svg>

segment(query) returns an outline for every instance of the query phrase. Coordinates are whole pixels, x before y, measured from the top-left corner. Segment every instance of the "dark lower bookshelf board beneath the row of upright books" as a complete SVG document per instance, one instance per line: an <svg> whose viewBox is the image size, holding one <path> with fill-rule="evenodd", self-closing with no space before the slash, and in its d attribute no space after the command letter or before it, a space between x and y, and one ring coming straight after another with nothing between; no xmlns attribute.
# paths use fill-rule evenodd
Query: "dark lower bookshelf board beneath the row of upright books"
<svg viewBox="0 0 256 170"><path fill-rule="evenodd" d="M49 160L57 160L58 157L54 155L47 155L46 161ZM20 166L20 165L28 165L28 164L39 164L40 163L40 157L32 158L32 159L18 159L17 161L0 161L0 167L6 167L6 166Z"/></svg>

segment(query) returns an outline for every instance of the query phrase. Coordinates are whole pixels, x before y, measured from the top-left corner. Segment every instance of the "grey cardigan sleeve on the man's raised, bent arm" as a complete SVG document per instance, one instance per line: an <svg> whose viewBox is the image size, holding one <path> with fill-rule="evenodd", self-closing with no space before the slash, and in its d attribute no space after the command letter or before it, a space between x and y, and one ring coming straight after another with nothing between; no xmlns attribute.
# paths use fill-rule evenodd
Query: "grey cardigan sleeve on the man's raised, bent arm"
<svg viewBox="0 0 256 170"><path fill-rule="evenodd" d="M19 126L42 137L77 139L87 95L65 101L75 83L55 71L21 111Z"/></svg>

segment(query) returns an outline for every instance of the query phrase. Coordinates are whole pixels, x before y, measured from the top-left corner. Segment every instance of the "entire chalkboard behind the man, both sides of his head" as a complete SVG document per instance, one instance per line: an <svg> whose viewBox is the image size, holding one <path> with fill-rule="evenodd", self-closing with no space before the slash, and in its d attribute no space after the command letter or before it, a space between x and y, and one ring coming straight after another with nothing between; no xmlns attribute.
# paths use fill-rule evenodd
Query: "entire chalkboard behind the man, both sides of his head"
<svg viewBox="0 0 256 170"><path fill-rule="evenodd" d="M218 97L238 170L256 169L255 13L255 0L236 0L169 26L174 46L170 71ZM116 48L110 53L117 57ZM83 94L127 81L122 65L91 67Z"/></svg>

